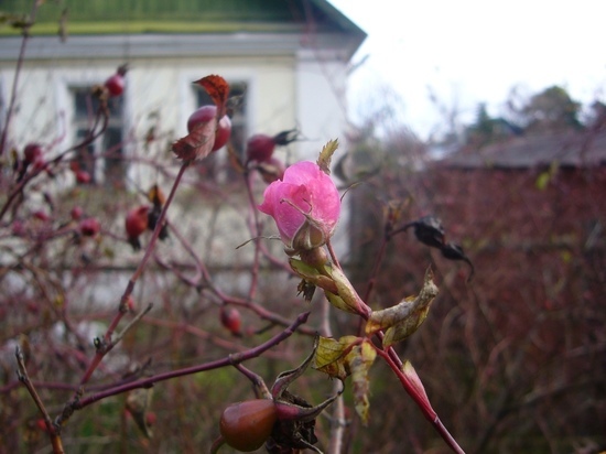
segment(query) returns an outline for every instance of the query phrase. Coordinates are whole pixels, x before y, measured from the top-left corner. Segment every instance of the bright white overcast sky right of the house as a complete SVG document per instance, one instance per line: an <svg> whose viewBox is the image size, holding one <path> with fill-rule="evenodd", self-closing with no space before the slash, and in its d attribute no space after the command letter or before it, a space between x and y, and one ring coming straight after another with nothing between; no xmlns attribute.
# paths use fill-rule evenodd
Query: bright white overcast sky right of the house
<svg viewBox="0 0 606 454"><path fill-rule="evenodd" d="M421 137L441 122L430 88L469 118L480 101L499 114L513 86L532 94L561 85L583 102L606 98L606 1L331 1L368 33L354 58L368 55L350 79L354 118L386 85Z"/></svg>

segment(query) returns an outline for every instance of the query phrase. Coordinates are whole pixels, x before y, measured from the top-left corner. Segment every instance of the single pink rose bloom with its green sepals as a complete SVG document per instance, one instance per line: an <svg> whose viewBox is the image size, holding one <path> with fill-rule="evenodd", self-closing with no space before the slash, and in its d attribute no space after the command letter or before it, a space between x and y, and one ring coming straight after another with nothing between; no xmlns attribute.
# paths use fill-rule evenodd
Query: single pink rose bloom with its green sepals
<svg viewBox="0 0 606 454"><path fill-rule="evenodd" d="M323 246L340 214L335 183L313 162L299 162L271 183L259 209L273 217L286 252L294 255Z"/></svg>

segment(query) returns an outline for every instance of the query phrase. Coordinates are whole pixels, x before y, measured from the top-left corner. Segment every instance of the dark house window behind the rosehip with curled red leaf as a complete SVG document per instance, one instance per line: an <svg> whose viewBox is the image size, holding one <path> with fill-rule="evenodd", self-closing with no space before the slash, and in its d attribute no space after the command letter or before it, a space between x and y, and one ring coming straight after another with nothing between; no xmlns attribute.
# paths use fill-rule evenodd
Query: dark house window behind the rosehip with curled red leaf
<svg viewBox="0 0 606 454"><path fill-rule="evenodd" d="M228 145L232 147L234 152L241 158L244 156L246 140L248 138L246 96L248 86L246 82L228 80L228 83L230 98L228 115L231 119L231 137ZM194 94L197 107L213 104L206 90L201 86L194 86ZM225 158L225 153L212 153L197 165L203 176L224 181L229 179L232 172L227 162L228 160Z"/></svg>

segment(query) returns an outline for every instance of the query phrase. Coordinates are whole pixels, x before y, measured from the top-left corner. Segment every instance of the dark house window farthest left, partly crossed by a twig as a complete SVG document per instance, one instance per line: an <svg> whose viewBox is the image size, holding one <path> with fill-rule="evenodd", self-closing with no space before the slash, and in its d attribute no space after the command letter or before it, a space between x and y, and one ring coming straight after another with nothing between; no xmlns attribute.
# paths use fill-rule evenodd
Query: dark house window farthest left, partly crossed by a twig
<svg viewBox="0 0 606 454"><path fill-rule="evenodd" d="M74 140L79 143L95 126L99 100L90 93L90 87L73 87ZM109 120L104 133L93 143L76 151L77 167L88 172L91 184L122 186L126 179L123 156L123 97L108 100Z"/></svg>

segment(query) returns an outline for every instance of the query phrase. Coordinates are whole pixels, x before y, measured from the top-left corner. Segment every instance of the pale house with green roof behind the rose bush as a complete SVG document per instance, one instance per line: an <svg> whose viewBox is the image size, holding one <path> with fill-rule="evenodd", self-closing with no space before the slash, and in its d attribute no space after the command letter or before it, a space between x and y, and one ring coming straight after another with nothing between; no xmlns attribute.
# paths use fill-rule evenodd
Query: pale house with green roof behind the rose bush
<svg viewBox="0 0 606 454"><path fill-rule="evenodd" d="M33 2L2 3L3 11L17 13L29 12ZM105 138L88 150L97 158L111 147L115 156L137 156L152 127L167 139L184 136L187 117L201 102L192 82L208 74L224 76L234 94L245 95L234 118L237 141L297 127L306 140L291 150L302 159L343 137L347 67L366 35L327 1L64 3L65 40L57 34L62 10L54 2L36 12L9 125L10 147L37 141L59 152L73 144L90 126L90 87L125 63L130 68L125 94L113 105ZM0 29L2 127L21 43L18 31ZM110 172L111 179L122 172L136 183L145 179L116 160L91 162L98 183Z"/></svg>

